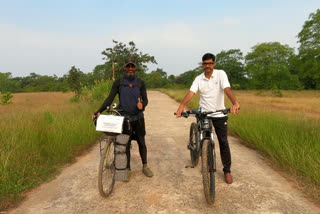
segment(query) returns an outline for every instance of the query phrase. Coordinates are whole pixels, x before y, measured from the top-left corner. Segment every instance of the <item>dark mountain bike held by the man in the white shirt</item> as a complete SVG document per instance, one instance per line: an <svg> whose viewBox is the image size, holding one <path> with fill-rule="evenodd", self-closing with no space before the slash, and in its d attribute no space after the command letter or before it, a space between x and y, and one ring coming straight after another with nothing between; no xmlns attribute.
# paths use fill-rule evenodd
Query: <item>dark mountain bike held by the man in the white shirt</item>
<svg viewBox="0 0 320 214"><path fill-rule="evenodd" d="M212 120L209 114L230 112L230 108L201 112L192 110L182 112L181 116L188 118L193 114L197 118L197 122L192 122L190 126L189 143L187 148L190 150L192 168L198 165L201 156L201 174L203 180L203 190L207 203L212 205L215 200L215 172L216 172L216 151L214 143L214 131Z"/></svg>

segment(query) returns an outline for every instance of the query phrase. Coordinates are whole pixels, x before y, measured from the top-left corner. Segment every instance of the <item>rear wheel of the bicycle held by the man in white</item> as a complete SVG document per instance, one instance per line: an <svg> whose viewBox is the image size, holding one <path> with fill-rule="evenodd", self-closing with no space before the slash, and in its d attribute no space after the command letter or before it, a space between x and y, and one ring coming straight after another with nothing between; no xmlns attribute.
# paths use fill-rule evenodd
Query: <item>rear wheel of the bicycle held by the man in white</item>
<svg viewBox="0 0 320 214"><path fill-rule="evenodd" d="M191 164L197 166L199 163L199 133L196 123L191 123L190 126L190 137L189 137L189 150Z"/></svg>

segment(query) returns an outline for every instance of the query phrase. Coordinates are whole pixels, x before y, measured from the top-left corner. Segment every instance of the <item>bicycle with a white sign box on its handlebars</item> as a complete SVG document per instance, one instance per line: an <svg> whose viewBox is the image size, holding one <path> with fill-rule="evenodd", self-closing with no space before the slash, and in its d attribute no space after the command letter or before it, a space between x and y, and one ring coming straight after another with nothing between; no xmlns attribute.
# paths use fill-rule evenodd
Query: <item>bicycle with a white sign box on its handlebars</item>
<svg viewBox="0 0 320 214"><path fill-rule="evenodd" d="M113 105L113 109L107 109L107 113L121 116L123 111L116 109L116 105ZM95 115L92 119L93 122L96 122L97 116ZM125 118L127 123L127 129L131 130L129 118ZM98 171L98 189L102 197L108 197L115 183L115 145L117 144L117 138L121 137L118 133L104 132L105 135L102 136L99 140L100 148L100 162L99 162L99 171Z"/></svg>

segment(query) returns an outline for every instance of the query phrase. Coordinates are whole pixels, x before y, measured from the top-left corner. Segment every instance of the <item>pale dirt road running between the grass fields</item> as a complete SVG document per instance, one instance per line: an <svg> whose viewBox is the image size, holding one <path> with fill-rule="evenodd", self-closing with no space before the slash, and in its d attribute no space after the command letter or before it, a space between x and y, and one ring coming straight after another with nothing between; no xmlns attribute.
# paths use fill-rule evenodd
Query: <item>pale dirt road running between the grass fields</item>
<svg viewBox="0 0 320 214"><path fill-rule="evenodd" d="M178 103L167 95L151 91L148 96L146 140L153 178L142 174L138 146L133 142L130 181L116 182L109 198L100 197L96 145L55 180L33 190L23 204L9 213L320 213L257 152L232 137L229 140L234 183L224 183L218 156L216 201L214 206L208 206L200 166L185 168L190 164L186 145L194 118L176 119L173 112Z"/></svg>

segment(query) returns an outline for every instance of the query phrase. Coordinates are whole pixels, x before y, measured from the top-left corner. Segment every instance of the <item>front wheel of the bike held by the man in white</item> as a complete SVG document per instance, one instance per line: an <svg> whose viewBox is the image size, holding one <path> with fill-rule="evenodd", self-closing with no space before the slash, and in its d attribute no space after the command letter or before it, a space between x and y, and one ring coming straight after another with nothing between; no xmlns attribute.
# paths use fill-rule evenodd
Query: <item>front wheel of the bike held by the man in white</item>
<svg viewBox="0 0 320 214"><path fill-rule="evenodd" d="M202 179L203 191L207 203L212 205L215 199L215 175L214 175L214 157L210 140L206 139L202 144Z"/></svg>

